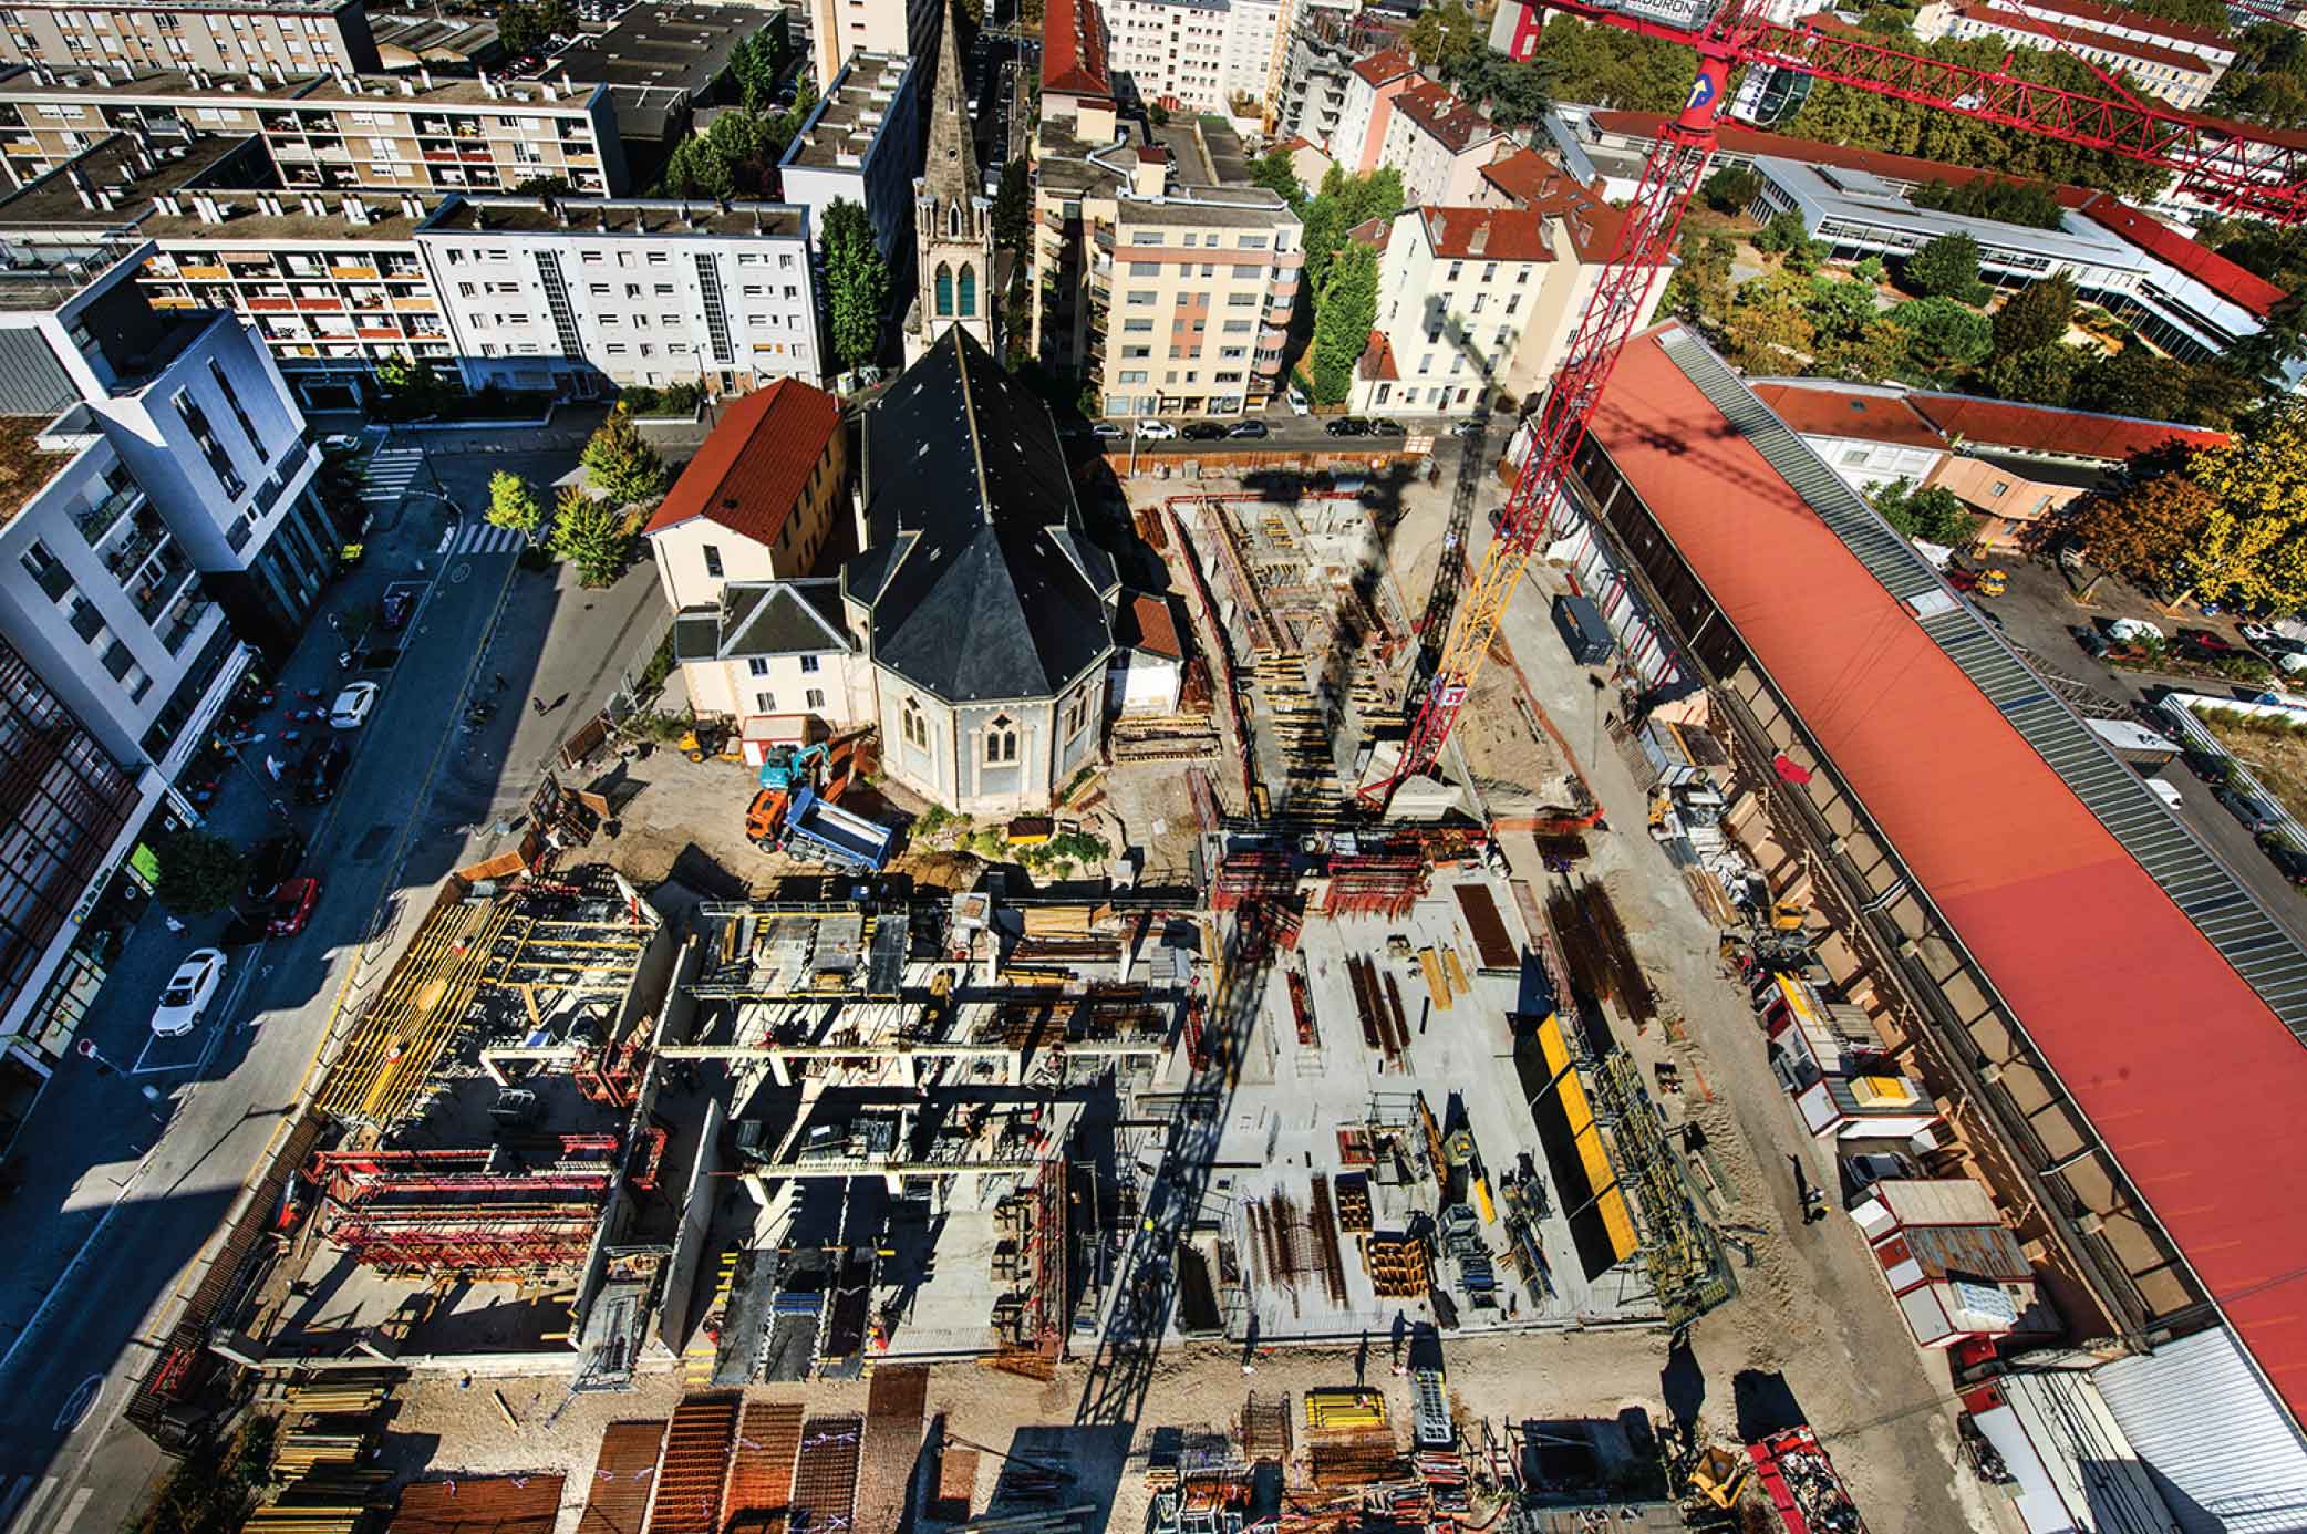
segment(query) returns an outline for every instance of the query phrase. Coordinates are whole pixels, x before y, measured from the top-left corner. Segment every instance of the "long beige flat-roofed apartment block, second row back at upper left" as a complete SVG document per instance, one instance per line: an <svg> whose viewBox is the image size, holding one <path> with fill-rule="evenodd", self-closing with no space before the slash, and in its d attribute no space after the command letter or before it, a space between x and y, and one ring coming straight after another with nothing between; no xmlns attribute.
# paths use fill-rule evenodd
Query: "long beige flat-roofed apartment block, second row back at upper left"
<svg viewBox="0 0 2307 1534"><path fill-rule="evenodd" d="M25 185L108 134L256 134L291 189L628 191L609 88L413 76L25 69L0 81L0 159Z"/></svg>

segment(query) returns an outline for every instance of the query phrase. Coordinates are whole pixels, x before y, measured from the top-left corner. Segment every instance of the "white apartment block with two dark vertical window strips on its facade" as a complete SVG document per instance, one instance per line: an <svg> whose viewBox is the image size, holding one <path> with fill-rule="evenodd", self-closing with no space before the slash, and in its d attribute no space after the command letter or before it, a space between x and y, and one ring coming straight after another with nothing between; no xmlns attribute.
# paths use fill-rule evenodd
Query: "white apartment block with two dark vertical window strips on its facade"
<svg viewBox="0 0 2307 1534"><path fill-rule="evenodd" d="M738 392L826 376L803 208L450 198L418 249L466 388Z"/></svg>

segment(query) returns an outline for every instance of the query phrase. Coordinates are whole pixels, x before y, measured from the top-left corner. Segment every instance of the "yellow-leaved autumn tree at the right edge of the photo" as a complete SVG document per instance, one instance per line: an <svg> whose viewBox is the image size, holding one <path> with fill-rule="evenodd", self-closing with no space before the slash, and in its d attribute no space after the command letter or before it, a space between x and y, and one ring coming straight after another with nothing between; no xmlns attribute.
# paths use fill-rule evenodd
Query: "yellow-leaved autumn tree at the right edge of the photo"
<svg viewBox="0 0 2307 1534"><path fill-rule="evenodd" d="M2307 399L2270 399L2224 448L2196 452L2189 478L2212 505L2173 602L2307 604Z"/></svg>

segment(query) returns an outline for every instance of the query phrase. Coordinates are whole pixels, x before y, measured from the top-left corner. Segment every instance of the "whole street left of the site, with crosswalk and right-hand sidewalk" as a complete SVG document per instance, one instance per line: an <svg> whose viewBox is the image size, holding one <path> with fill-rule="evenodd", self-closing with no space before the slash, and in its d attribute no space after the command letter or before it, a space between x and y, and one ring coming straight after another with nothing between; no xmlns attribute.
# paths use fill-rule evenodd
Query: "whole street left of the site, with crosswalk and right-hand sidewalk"
<svg viewBox="0 0 2307 1534"><path fill-rule="evenodd" d="M120 1527L134 1513L164 1458L118 1412L321 1045L383 978L404 907L459 865L496 812L526 800L535 764L598 708L623 660L614 646L660 632L651 614L662 602L646 561L616 588L586 593L561 570L521 574L519 535L478 519L496 468L526 473L549 498L588 427L526 434L517 454L482 431L399 434L376 454L378 519L367 561L325 593L277 678L279 704L254 724L270 738L245 752L251 770L226 775L208 810L210 830L245 847L277 828L270 800L291 796L256 777L261 752L286 745L293 761L300 743L275 731L328 729L288 715L314 699L325 708L346 680L344 639L330 618L351 627L388 584L424 581L397 664L365 674L383 692L337 796L286 810L309 844L305 870L325 881L311 925L293 939L233 948L203 1024L155 1043L161 980L187 950L217 943L226 925L215 913L171 932L155 904L83 1029L129 1075L69 1061L18 1142L28 1179L0 1206L0 1239L16 1255L0 1285L7 1527L62 1534ZM556 625L565 602L579 621ZM616 623L593 623L595 611ZM544 713L528 706L538 694ZM464 717L468 699L489 706L484 720ZM159 1100L148 1103L143 1086L157 1086Z"/></svg>

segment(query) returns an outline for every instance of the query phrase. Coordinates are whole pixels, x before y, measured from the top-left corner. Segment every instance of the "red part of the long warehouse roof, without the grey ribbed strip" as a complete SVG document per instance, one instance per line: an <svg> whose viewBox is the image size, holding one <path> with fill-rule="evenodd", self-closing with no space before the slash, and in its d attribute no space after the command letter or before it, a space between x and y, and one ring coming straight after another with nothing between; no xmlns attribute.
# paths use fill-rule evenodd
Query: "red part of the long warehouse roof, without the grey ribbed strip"
<svg viewBox="0 0 2307 1534"><path fill-rule="evenodd" d="M1659 332L1594 436L2307 1419L2307 1050Z"/></svg>

